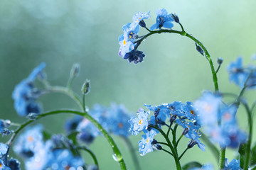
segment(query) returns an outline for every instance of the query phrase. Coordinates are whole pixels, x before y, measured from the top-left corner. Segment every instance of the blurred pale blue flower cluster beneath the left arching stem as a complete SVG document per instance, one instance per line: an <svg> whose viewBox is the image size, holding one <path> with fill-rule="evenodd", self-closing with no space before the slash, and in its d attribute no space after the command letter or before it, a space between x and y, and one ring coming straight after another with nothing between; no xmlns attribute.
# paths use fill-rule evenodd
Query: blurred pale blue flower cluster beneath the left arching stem
<svg viewBox="0 0 256 170"><path fill-rule="evenodd" d="M79 154L71 152L73 143L62 135L43 137L43 126L27 128L18 137L14 152L25 159L26 169L82 169L85 162Z"/></svg>

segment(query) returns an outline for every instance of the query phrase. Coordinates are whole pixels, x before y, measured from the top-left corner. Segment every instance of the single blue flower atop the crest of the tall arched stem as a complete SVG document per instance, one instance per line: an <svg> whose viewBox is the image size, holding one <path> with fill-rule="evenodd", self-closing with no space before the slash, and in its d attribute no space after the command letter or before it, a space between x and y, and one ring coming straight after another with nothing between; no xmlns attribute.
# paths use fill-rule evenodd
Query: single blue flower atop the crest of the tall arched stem
<svg viewBox="0 0 256 170"><path fill-rule="evenodd" d="M174 26L171 14L168 14L165 8L156 10L156 23L150 27L150 30L164 28L172 28Z"/></svg>

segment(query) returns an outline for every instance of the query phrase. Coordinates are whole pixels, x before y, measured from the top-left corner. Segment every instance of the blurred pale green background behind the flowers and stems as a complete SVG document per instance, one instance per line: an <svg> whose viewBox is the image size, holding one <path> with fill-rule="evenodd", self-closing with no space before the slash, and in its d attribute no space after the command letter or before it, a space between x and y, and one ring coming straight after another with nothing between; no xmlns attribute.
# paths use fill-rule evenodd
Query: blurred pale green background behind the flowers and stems
<svg viewBox="0 0 256 170"><path fill-rule="evenodd" d="M3 119L22 123L14 111L11 93L14 86L28 76L41 62L46 62L48 80L53 85L68 81L74 62L81 64L80 77L75 79L74 91L80 93L85 79L91 80L87 106L94 103L110 106L112 101L124 104L131 113L144 103L159 105L173 101L194 101L203 89L213 90L207 60L195 50L195 43L181 35L161 34L147 38L139 47L146 53L137 65L117 55L118 37L122 26L132 22L138 11L151 11L147 26L155 22L156 8L176 13L183 27L203 42L213 57L223 57L218 73L220 91L238 93L239 88L228 81L226 66L242 55L245 63L256 52L255 0L183 0L183 1L103 1L103 0L0 0L0 114ZM175 26L174 28L178 28ZM146 31L141 30L140 35ZM255 92L246 94L253 101ZM48 94L40 98L44 111L55 108L78 108L67 96ZM238 114L246 130L246 117ZM40 120L50 132L63 132L63 123L70 115L51 116ZM130 137L134 147L140 135ZM7 138L2 138L5 141ZM134 169L124 142L114 140L124 154L128 169ZM183 148L188 139L183 138ZM112 151L103 137L90 146L100 162L100 169L119 169ZM183 152L180 148L180 152ZM164 152L139 156L142 169L175 169L174 160ZM233 159L235 150L228 152ZM14 154L13 157L16 157ZM92 163L85 154L85 161ZM210 150L198 147L188 150L181 164L198 161L216 166Z"/></svg>

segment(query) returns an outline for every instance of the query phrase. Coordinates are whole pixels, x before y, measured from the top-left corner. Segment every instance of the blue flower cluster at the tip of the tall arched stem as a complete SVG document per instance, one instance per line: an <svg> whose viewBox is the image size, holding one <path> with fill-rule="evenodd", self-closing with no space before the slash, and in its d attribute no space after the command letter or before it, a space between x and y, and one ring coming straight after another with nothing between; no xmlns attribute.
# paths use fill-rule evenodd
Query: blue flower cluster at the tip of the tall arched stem
<svg viewBox="0 0 256 170"><path fill-rule="evenodd" d="M127 23L127 25L124 25L122 28L124 33L118 38L120 45L118 54L124 59L127 59L129 62L134 62L137 64L142 62L143 58L145 57L144 52L137 50L139 44L142 42L142 40L144 40L144 36L141 38L139 37L138 33L139 26L146 28L144 19L148 19L149 17L149 12L135 13L132 18L132 23ZM146 29L149 31L161 29L162 27L171 29L174 26L172 23L173 21L177 22L178 16L174 14L168 14L164 8L158 9L156 10L156 23L150 27L150 30L148 28Z"/></svg>

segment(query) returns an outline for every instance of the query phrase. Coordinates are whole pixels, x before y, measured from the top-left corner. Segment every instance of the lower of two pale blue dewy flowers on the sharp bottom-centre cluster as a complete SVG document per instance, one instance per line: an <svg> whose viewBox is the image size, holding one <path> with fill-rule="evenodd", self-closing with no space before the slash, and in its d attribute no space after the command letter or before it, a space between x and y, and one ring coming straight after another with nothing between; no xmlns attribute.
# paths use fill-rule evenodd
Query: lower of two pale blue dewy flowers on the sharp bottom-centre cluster
<svg viewBox="0 0 256 170"><path fill-rule="evenodd" d="M151 129L150 131L143 130L143 132L145 133L145 135L142 135L142 140L138 142L139 154L142 156L144 156L146 153L153 151L151 142L153 142L154 136L156 135L156 131L153 129Z"/></svg>

